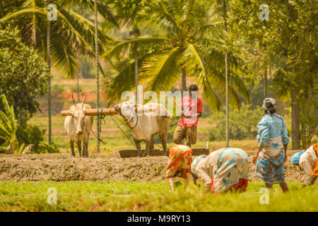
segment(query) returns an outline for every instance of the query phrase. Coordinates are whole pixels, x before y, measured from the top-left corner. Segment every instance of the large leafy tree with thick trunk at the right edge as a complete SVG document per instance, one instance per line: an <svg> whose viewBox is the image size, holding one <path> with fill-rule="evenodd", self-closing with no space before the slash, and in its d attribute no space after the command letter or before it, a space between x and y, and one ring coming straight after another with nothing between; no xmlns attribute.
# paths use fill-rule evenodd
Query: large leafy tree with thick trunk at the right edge
<svg viewBox="0 0 318 226"><path fill-rule="evenodd" d="M317 95L317 66L314 66L317 65L317 52L314 52L317 49L317 1L262 3L269 5L266 25L259 20L259 1L254 0L231 2L233 24L242 31L240 35L252 37L251 44L259 43L260 47L263 44L261 52L267 52L264 56L268 57L273 69L276 97L289 100L292 107L292 148L298 150L307 147L317 128L317 114L301 117L308 111L317 112L317 98L314 97L315 93ZM266 62L266 58L263 61ZM308 102L312 102L310 108ZM300 134L307 134L307 139Z"/></svg>

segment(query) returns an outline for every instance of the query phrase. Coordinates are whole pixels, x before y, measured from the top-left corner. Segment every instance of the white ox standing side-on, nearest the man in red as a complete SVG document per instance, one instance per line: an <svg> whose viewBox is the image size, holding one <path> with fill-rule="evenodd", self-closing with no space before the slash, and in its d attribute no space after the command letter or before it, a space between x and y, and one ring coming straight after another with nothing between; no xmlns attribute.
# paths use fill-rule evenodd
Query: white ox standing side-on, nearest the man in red
<svg viewBox="0 0 318 226"><path fill-rule="evenodd" d="M167 155L167 131L170 112L158 103L135 105L133 102L123 102L116 105L115 110L124 117L126 124L131 129L134 143L139 156L153 155L153 137L159 133L163 151ZM142 115L136 112L143 112ZM146 141L146 151L141 153L140 141Z"/></svg>

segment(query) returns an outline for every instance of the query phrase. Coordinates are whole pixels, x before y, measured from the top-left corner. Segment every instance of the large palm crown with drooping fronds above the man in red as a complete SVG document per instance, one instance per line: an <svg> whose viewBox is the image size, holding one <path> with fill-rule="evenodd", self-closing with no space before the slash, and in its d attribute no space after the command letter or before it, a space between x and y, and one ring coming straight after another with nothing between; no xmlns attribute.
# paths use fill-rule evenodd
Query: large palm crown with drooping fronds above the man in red
<svg viewBox="0 0 318 226"><path fill-rule="evenodd" d="M182 77L182 90L186 78L192 76L204 89L204 97L212 109L221 105L218 93L225 94L224 54L225 42L218 30L222 20L216 17L209 1L151 1L139 13L139 24L157 30L157 34L113 42L103 57L116 59L126 56L130 49L139 47L141 81L148 83L148 90L170 90ZM213 38L212 38L213 37ZM228 47L230 49L230 47ZM230 104L240 106L238 93L249 100L249 92L237 76L239 61L234 52L228 52ZM114 64L117 69L107 93L112 101L119 100L120 93L134 86L131 68L134 60L127 57ZM124 83L123 83L124 81ZM114 90L116 92L114 93Z"/></svg>

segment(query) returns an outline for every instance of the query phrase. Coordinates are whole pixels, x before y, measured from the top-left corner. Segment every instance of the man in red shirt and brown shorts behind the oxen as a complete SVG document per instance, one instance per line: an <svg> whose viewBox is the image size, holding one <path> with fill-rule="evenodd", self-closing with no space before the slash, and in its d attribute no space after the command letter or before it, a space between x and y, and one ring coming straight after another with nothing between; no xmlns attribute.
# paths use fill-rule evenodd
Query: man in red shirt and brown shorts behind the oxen
<svg viewBox="0 0 318 226"><path fill-rule="evenodd" d="M198 85L190 85L189 96L182 98L182 116L173 135L175 144L181 144L184 138L190 148L192 144L196 143L196 125L199 117L202 117L203 110L203 102L197 97L198 90Z"/></svg>

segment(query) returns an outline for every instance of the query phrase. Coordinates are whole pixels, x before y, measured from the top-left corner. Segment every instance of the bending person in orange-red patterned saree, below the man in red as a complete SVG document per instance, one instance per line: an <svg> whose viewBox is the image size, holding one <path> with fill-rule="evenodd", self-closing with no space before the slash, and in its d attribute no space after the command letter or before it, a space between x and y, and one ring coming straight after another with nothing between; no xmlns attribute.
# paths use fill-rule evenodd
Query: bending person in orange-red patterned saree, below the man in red
<svg viewBox="0 0 318 226"><path fill-rule="evenodd" d="M187 145L173 145L169 150L169 159L167 162L166 178L169 181L170 188L175 191L173 179L175 177L182 177L187 186L188 177L187 172L190 172L192 164L192 149Z"/></svg>

